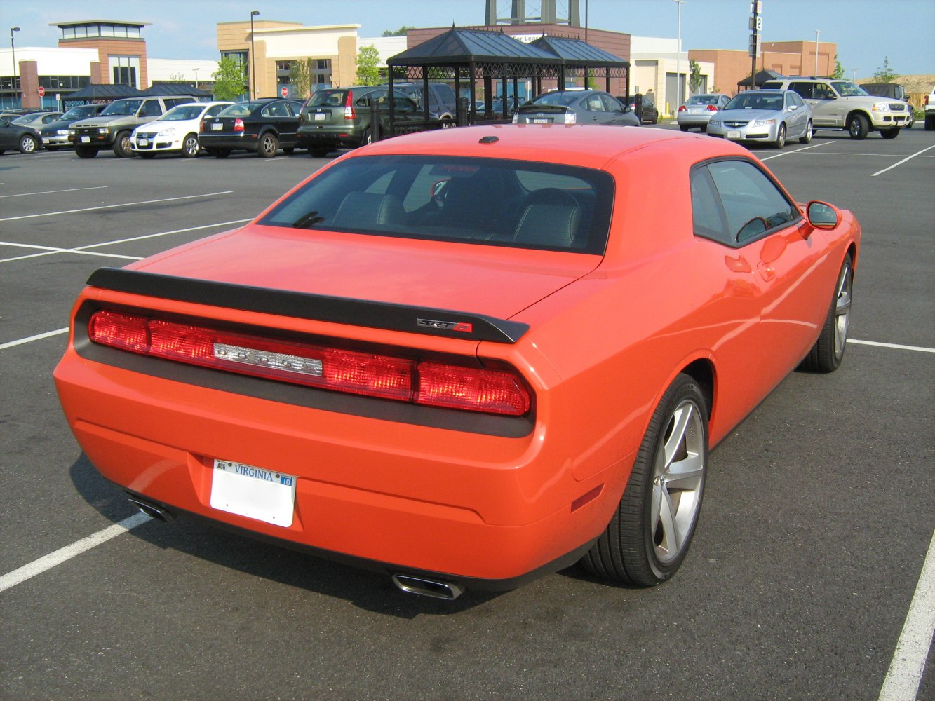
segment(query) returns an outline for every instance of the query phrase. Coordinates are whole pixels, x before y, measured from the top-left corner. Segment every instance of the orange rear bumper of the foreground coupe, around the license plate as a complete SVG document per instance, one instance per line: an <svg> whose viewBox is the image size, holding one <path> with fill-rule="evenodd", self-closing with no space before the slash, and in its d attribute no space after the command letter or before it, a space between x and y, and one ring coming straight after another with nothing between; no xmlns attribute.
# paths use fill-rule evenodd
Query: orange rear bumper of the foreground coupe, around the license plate
<svg viewBox="0 0 935 701"><path fill-rule="evenodd" d="M541 428L483 436L296 407L102 365L71 346L55 382L81 448L124 489L391 573L510 589L571 564L623 491L620 464L574 479ZM292 524L211 508L215 458L297 476Z"/></svg>

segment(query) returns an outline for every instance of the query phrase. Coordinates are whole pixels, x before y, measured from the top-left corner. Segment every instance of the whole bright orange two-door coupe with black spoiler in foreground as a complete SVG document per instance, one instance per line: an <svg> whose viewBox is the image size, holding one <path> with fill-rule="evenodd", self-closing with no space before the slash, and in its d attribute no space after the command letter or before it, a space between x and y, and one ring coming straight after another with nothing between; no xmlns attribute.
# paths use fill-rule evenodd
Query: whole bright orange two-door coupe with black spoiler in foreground
<svg viewBox="0 0 935 701"><path fill-rule="evenodd" d="M669 579L708 453L840 363L854 216L652 129L402 136L89 279L55 381L100 472L453 598ZM817 380L816 380L817 381Z"/></svg>

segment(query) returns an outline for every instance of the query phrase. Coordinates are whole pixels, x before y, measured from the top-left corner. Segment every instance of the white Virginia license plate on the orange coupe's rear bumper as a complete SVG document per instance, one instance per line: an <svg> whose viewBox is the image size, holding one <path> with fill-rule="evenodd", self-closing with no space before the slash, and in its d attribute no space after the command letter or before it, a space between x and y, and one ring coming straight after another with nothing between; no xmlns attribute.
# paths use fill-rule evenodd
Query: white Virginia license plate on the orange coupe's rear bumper
<svg viewBox="0 0 935 701"><path fill-rule="evenodd" d="M287 528L293 522L297 479L295 475L215 459L211 508Z"/></svg>

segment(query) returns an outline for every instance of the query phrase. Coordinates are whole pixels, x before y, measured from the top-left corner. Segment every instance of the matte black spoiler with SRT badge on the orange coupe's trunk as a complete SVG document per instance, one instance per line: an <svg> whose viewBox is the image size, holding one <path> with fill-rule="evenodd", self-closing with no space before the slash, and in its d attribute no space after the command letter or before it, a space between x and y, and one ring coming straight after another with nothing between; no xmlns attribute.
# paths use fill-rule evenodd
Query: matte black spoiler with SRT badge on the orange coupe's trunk
<svg viewBox="0 0 935 701"><path fill-rule="evenodd" d="M125 268L98 268L88 278L88 284L103 290L145 294L177 302L319 322L347 323L425 336L516 343L529 330L529 325L525 323L452 309L410 307L324 294L272 290Z"/></svg>

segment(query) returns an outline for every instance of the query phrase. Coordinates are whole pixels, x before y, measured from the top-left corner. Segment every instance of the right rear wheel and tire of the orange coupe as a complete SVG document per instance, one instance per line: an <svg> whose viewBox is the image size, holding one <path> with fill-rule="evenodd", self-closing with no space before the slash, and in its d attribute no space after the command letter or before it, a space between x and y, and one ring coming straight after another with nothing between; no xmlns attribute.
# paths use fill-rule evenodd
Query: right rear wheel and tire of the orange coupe
<svg viewBox="0 0 935 701"><path fill-rule="evenodd" d="M639 586L669 579L695 534L707 462L704 393L679 375L655 408L617 511L582 565Z"/></svg>

